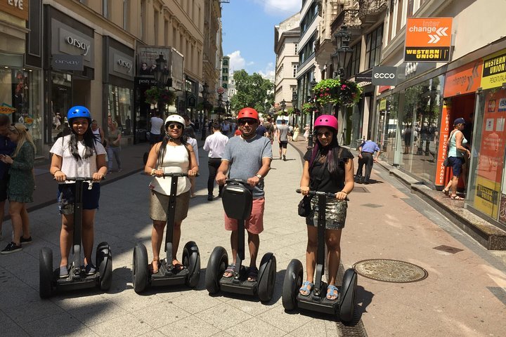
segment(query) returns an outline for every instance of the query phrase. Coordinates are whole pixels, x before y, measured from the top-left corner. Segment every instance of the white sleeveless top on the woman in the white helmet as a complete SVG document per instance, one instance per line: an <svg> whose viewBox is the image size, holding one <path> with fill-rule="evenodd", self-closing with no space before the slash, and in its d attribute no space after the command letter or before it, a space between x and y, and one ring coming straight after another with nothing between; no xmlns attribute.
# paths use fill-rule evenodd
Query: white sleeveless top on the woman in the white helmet
<svg viewBox="0 0 506 337"><path fill-rule="evenodd" d="M162 167L158 169L163 169L165 173L188 173L189 168L190 157L188 156L188 150L186 150L186 147L184 145L167 145ZM150 188L156 192L169 195L171 180L172 179L170 177L155 177L151 180ZM188 192L189 190L190 179L188 177L179 177L177 195Z"/></svg>

